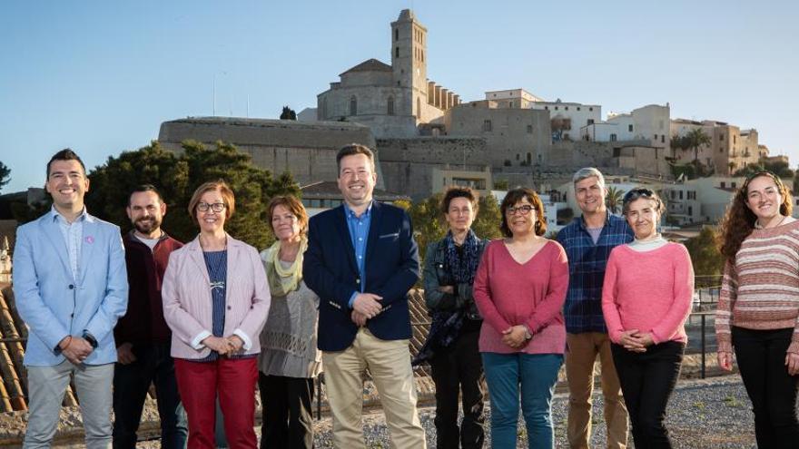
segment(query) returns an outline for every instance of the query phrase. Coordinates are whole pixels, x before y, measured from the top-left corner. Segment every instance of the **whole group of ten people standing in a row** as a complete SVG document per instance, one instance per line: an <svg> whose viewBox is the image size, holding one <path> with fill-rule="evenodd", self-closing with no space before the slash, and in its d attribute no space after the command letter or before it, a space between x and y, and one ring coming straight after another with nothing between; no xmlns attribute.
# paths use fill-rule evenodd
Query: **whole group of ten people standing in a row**
<svg viewBox="0 0 799 449"><path fill-rule="evenodd" d="M261 447L312 447L313 378L323 366L336 447L364 447L368 368L393 444L424 448L411 368L423 362L436 385L439 448L485 444L486 386L493 447L516 447L519 409L529 447L553 447L551 402L565 361L568 442L587 448L597 356L608 447L626 447L628 419L636 447L671 447L666 405L694 273L685 247L658 232L656 192L628 191L620 218L607 211L602 173L577 171L582 216L552 240L538 194L509 190L504 239L487 241L471 229L477 192L447 190L449 230L424 260L429 337L411 362L418 248L408 214L373 200L374 163L363 145L342 148L343 204L311 219L296 198L273 198L276 241L259 253L225 231L235 196L224 181L195 190L187 212L199 233L185 245L161 229L166 203L151 185L131 193L133 229L120 239L84 207L83 162L56 153L45 183L53 209L18 229L15 249L16 304L30 328L25 447L49 446L70 376L91 448L135 446L151 384L163 447L215 447L217 404L231 447L256 447L256 385ZM735 348L760 447L799 444L799 221L790 212L782 182L761 172L722 226L719 365L731 368Z"/></svg>

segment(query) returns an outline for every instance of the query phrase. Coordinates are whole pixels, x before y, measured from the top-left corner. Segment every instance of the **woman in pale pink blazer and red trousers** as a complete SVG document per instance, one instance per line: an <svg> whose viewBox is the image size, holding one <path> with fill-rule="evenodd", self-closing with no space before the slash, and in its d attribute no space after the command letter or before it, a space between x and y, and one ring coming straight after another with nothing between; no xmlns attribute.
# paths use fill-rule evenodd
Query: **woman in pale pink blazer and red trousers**
<svg viewBox="0 0 799 449"><path fill-rule="evenodd" d="M192 449L216 447L217 395L230 446L257 444L256 357L270 293L258 251L224 231L234 209L224 181L197 188L189 213L200 235L173 251L163 278L163 317L172 328L171 352Z"/></svg>

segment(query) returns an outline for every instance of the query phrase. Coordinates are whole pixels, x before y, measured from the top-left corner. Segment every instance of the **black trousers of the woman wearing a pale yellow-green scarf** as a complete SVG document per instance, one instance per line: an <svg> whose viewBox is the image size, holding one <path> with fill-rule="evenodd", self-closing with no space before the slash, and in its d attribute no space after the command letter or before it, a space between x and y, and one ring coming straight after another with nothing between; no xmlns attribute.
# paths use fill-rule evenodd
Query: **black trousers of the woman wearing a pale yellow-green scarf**
<svg viewBox="0 0 799 449"><path fill-rule="evenodd" d="M258 373L261 390L261 449L313 447L313 379Z"/></svg>

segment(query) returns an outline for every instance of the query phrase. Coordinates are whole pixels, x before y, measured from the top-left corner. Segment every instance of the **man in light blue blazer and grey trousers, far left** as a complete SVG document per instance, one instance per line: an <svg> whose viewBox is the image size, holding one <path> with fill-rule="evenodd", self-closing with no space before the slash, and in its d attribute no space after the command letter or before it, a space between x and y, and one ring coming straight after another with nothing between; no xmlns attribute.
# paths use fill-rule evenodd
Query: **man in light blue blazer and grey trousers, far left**
<svg viewBox="0 0 799 449"><path fill-rule="evenodd" d="M49 447L74 376L86 447L111 447L113 327L127 307L119 228L86 212L84 162L62 150L47 163L53 209L17 229L14 294L29 327L24 447Z"/></svg>

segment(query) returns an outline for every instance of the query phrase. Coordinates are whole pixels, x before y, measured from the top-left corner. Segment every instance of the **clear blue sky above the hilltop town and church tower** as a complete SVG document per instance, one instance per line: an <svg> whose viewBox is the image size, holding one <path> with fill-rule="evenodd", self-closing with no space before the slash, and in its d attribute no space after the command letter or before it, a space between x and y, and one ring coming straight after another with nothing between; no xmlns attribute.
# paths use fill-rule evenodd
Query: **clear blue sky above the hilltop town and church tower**
<svg viewBox="0 0 799 449"><path fill-rule="evenodd" d="M736 5L737 4L737 5ZM338 74L390 63L390 22L428 28L428 76L478 100L522 87L603 113L670 102L672 118L754 127L799 162L799 4L782 2L5 1L4 192L41 186L72 147L89 169L163 121L300 112Z"/></svg>

